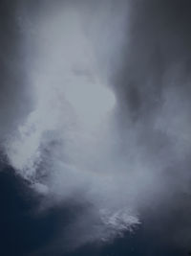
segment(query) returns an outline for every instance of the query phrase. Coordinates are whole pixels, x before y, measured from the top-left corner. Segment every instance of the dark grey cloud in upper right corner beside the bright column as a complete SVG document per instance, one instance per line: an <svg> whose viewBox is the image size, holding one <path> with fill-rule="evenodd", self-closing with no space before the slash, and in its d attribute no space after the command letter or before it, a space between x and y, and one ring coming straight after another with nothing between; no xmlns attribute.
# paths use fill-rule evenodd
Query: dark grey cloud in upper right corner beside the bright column
<svg viewBox="0 0 191 256"><path fill-rule="evenodd" d="M130 112L147 115L155 110L174 77L179 79L175 86L189 90L190 10L190 1L131 2L117 75L117 88Z"/></svg>

